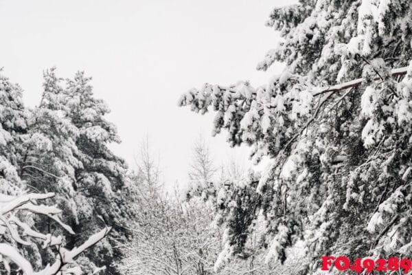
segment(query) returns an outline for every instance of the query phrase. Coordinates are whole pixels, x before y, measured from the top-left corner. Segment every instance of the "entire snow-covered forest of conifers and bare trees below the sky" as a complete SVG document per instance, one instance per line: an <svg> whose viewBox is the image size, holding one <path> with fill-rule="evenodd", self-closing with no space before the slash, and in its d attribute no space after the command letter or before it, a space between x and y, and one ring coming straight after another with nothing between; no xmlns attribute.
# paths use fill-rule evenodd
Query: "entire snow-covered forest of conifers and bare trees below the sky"
<svg viewBox="0 0 412 275"><path fill-rule="evenodd" d="M281 74L176 98L253 164L218 164L199 137L185 186L162 181L150 138L135 164L113 152L121 137L87 72L45 69L27 107L3 68L0 274L356 274L322 271L321 256L410 258L411 1L268 13L280 39L257 69Z"/></svg>

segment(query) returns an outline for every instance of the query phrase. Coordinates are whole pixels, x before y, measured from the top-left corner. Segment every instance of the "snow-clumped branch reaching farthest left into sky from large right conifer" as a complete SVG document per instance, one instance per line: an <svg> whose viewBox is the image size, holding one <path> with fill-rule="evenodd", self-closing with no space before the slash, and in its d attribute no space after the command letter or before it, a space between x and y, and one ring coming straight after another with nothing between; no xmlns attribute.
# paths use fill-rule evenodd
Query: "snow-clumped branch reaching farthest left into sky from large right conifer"
<svg viewBox="0 0 412 275"><path fill-rule="evenodd" d="M408 67L391 69L389 76L392 78L402 77L407 72ZM179 107L190 106L192 111L200 111L202 114L208 111L209 106L212 106L214 111L218 112L214 119L213 135L220 133L222 128L228 129L228 142L232 146L242 142L252 145L255 137L258 136L256 133L253 133L253 129L257 128L254 122L262 120L260 126L263 132L267 134L268 129L273 127L271 120L273 120L275 115L278 115L277 125L273 127L274 132L284 126L285 120L294 122L294 126L298 130L298 133L291 136L283 148L288 149L290 143L301 135L310 123L314 122L319 115L319 111L321 111L325 102L330 100L332 94L347 90L338 100L335 99L336 102L334 102L333 107L336 107L354 88L357 88L362 83L370 83L371 81L382 82L384 79L377 72L375 76L369 75L338 85L311 87L307 83L300 84L302 80L298 75L293 75L286 71L280 76L275 76L266 88L259 87L254 89L249 82L239 82L231 87L206 83L201 90L191 89L186 94L183 94L179 99L178 105ZM282 86L286 86L286 82L296 84L293 90L286 94L277 93L277 90L284 89ZM319 100L314 100L317 97L319 97ZM286 106L287 104L290 105L288 106L289 108ZM283 115L285 111L290 111L290 114L286 115L287 118ZM240 117L242 120L236 121L236 117ZM240 129L240 131L236 129ZM278 140L277 144L279 144ZM279 153L279 150L277 148L276 153ZM255 152L258 153L258 151L255 148ZM268 155L268 153L260 152L256 155L255 163L260 162L262 155ZM339 161L339 157L337 160Z"/></svg>

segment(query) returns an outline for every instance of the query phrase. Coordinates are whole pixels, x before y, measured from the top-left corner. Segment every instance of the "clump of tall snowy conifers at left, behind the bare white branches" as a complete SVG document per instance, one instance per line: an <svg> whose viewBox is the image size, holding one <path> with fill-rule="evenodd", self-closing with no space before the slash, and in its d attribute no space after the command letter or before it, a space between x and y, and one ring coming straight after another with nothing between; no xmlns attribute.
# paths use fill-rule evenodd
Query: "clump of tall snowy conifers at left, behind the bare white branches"
<svg viewBox="0 0 412 275"><path fill-rule="evenodd" d="M104 118L106 104L93 97L89 80L78 73L64 85L55 69L47 70L40 104L27 109L19 86L1 76L0 192L54 192L53 202L62 209L58 217L76 234L47 215L27 219L40 232L63 236L68 249L87 241L82 232L111 226L110 236L83 253L78 264L88 272L94 263L107 265L115 274L111 263L122 256L115 241L126 241L135 191L124 160L108 149L119 139L115 126ZM22 250L38 270L54 253L50 246L33 243Z"/></svg>

